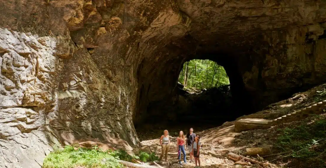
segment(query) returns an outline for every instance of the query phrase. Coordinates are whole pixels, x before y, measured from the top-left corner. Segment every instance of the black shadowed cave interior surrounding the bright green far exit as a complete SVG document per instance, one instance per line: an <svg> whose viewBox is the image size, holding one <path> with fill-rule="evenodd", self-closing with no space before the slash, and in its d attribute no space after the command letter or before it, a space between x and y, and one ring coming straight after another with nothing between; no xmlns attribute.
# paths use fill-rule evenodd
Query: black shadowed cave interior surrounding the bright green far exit
<svg viewBox="0 0 326 168"><path fill-rule="evenodd" d="M192 59L208 59L223 66L229 77L230 86L205 89L199 94L189 94L183 90L183 85L178 84L177 80L183 64ZM145 80L140 82L141 89L136 105L138 110L133 118L136 129L139 127L138 124L191 126L197 121L200 125L219 126L242 115L251 114L255 108L257 109L252 96L244 87L236 60L230 55L207 53L188 56L183 60L167 62L165 65L149 64L149 66L156 67L151 71L157 76L153 77L155 80L143 78ZM141 68L146 69L144 66ZM164 69L156 70L158 68Z"/></svg>

